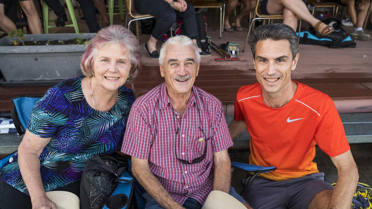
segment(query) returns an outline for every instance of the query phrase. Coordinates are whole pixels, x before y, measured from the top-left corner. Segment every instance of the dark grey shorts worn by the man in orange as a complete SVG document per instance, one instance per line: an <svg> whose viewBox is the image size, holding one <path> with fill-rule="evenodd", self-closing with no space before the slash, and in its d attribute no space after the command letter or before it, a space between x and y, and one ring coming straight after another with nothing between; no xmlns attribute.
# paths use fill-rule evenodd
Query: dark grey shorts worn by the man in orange
<svg viewBox="0 0 372 209"><path fill-rule="evenodd" d="M257 176L244 199L254 209L306 209L315 194L333 189L330 183L323 180L323 176L324 173L313 173L284 181Z"/></svg>

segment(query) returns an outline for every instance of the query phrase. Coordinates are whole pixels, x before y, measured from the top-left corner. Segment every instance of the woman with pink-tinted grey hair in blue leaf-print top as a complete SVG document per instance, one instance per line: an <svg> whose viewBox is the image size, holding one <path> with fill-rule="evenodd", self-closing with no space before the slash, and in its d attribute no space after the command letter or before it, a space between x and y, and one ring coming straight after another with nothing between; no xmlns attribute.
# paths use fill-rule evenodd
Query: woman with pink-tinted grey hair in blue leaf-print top
<svg viewBox="0 0 372 209"><path fill-rule="evenodd" d="M135 100L123 85L138 75L140 61L137 39L122 26L88 42L85 76L62 81L35 104L18 155L1 168L0 208L57 208L45 194L52 190L79 196L89 158L121 147Z"/></svg>

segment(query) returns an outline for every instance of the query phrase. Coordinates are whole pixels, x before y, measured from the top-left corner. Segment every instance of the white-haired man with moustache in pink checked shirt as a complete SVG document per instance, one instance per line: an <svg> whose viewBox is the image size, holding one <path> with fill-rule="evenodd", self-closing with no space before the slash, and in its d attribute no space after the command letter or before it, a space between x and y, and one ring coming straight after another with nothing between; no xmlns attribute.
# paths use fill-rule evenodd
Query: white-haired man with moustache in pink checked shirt
<svg viewBox="0 0 372 209"><path fill-rule="evenodd" d="M222 104L193 86L199 64L190 38L170 38L159 57L165 82L132 106L121 151L132 156L147 209L201 208L212 190L245 202L230 187L232 141Z"/></svg>

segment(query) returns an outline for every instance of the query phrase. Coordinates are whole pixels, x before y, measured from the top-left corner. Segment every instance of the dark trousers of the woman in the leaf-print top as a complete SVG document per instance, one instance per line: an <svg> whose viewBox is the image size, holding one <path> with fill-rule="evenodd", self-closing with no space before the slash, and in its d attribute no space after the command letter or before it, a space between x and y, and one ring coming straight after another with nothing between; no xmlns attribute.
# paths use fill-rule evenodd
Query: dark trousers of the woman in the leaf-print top
<svg viewBox="0 0 372 209"><path fill-rule="evenodd" d="M67 191L80 196L80 181L67 184L55 191ZM22 208L32 209L31 198L28 194L0 180L0 209Z"/></svg>

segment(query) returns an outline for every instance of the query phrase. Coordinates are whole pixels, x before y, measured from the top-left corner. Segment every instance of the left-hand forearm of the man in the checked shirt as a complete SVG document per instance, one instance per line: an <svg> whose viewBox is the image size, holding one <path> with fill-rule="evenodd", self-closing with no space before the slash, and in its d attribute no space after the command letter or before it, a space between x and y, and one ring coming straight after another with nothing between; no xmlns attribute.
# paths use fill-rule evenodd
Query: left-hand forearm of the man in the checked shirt
<svg viewBox="0 0 372 209"><path fill-rule="evenodd" d="M134 176L145 190L164 208L182 208L160 184L159 180L151 173L150 168L141 166L132 169Z"/></svg>

